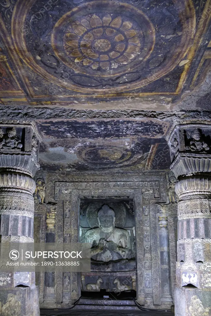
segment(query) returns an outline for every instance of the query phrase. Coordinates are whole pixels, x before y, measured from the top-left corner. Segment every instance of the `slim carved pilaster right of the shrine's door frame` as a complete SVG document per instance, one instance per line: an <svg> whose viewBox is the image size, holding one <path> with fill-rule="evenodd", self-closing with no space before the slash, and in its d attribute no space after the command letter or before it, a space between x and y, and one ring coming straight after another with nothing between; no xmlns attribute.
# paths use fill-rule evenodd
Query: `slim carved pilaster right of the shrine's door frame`
<svg viewBox="0 0 211 316"><path fill-rule="evenodd" d="M161 267L161 302L172 305L170 273L169 273L169 236L166 216L159 216L160 267Z"/></svg>

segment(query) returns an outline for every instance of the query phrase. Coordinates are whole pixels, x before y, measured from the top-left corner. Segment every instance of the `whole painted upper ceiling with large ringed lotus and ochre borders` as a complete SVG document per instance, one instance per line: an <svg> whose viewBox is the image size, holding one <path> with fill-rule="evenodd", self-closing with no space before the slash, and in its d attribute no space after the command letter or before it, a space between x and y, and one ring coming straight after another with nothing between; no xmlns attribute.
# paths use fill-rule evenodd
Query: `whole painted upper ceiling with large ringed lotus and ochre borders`
<svg viewBox="0 0 211 316"><path fill-rule="evenodd" d="M211 0L0 0L0 11L4 105L169 104L209 69Z"/></svg>

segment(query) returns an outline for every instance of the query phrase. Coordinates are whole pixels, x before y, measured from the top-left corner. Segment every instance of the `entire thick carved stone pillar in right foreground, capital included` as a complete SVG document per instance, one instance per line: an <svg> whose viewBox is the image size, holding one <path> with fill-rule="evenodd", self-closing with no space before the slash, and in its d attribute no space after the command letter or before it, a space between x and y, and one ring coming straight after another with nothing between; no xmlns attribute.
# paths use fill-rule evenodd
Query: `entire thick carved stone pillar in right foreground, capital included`
<svg viewBox="0 0 211 316"><path fill-rule="evenodd" d="M169 135L178 182L175 315L211 315L211 125L177 125Z"/></svg>

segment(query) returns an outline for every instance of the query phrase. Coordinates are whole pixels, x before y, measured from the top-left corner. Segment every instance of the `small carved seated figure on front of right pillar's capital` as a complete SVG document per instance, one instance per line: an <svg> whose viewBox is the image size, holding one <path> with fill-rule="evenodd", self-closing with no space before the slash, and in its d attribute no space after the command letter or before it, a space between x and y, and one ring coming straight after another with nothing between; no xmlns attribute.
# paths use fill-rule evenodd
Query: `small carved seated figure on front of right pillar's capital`
<svg viewBox="0 0 211 316"><path fill-rule="evenodd" d="M202 134L199 128L186 131L187 139L185 140L185 149L191 151L207 152L210 144L207 143L206 136Z"/></svg>

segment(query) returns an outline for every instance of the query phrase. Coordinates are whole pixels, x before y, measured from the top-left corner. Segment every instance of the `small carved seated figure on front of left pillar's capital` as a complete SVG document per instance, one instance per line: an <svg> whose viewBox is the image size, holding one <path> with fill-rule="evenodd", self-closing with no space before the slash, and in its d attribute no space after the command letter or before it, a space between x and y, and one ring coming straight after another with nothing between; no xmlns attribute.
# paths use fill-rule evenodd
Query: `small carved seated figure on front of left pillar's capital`
<svg viewBox="0 0 211 316"><path fill-rule="evenodd" d="M0 149L19 149L23 147L21 140L16 135L15 127L7 127L6 133L0 129Z"/></svg>

